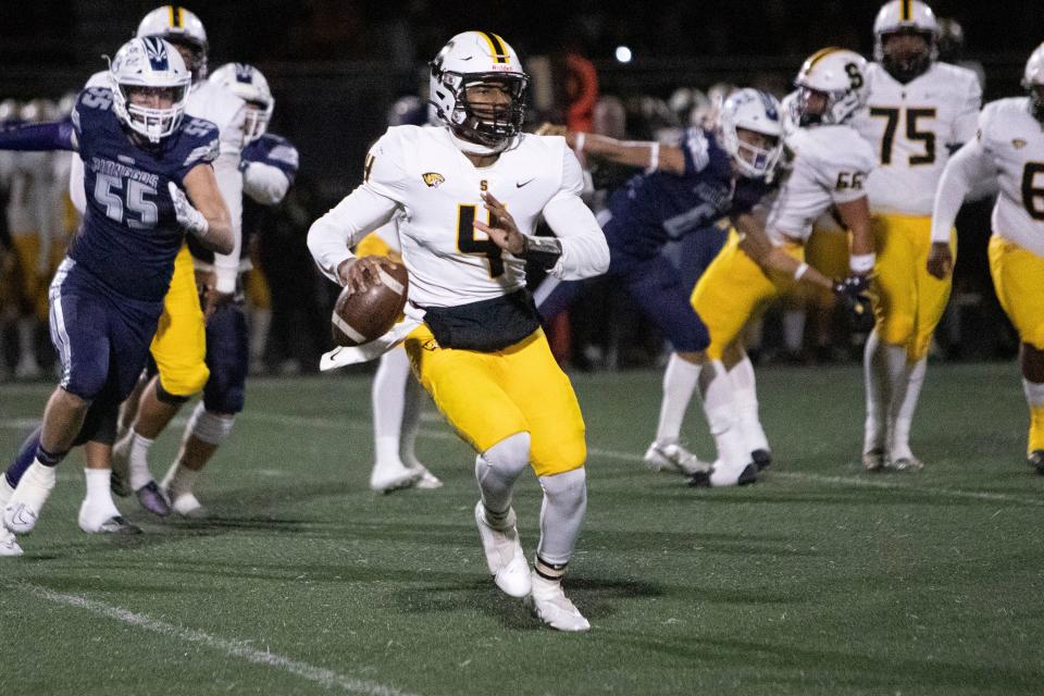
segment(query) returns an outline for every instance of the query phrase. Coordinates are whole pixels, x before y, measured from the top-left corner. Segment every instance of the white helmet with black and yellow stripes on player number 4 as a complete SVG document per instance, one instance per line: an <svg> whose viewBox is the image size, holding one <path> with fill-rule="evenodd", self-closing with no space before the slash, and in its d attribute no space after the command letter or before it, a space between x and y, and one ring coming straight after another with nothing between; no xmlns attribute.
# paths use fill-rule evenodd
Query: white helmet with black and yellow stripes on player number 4
<svg viewBox="0 0 1044 696"><path fill-rule="evenodd" d="M530 76L507 41L489 32L464 32L451 38L430 65L428 100L459 140L477 146L476 153L500 152L511 145L525 120ZM471 103L467 90L477 84L504 85L510 100Z"/></svg>

